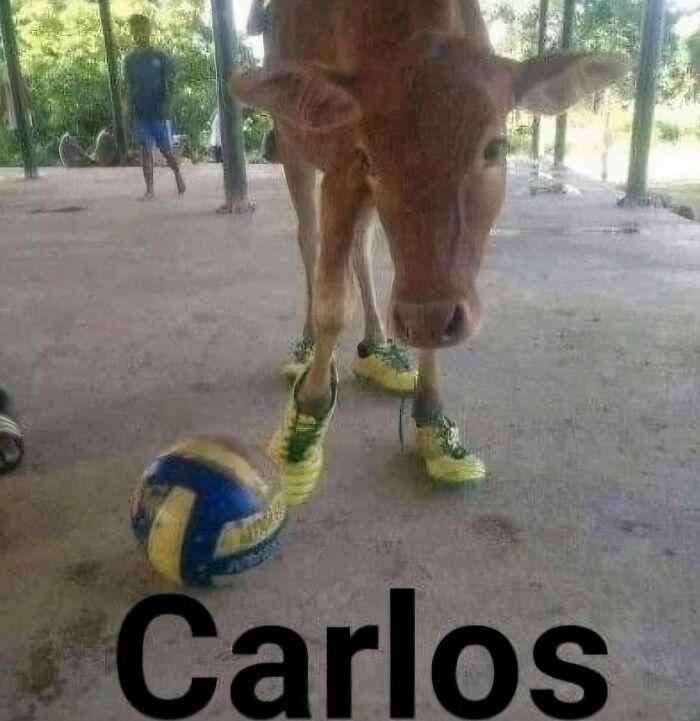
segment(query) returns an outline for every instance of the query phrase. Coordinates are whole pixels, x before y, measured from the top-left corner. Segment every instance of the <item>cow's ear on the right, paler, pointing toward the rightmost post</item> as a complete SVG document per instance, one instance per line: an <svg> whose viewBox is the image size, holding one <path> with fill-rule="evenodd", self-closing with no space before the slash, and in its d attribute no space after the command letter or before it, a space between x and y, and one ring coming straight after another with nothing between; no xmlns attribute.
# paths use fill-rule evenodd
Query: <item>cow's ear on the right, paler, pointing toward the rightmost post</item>
<svg viewBox="0 0 700 721"><path fill-rule="evenodd" d="M543 115L559 115L587 95L627 73L629 62L615 55L551 55L514 63L515 104Z"/></svg>

